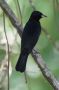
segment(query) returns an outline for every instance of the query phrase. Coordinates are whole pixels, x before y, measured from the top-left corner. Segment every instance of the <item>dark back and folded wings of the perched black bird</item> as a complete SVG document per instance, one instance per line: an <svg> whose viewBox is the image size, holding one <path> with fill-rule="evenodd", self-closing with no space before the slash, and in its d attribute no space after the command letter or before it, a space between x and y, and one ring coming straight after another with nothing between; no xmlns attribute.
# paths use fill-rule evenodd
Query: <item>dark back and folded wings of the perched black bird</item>
<svg viewBox="0 0 59 90"><path fill-rule="evenodd" d="M39 27L36 24L29 23L25 26L21 40L21 50L31 52L39 37Z"/></svg>

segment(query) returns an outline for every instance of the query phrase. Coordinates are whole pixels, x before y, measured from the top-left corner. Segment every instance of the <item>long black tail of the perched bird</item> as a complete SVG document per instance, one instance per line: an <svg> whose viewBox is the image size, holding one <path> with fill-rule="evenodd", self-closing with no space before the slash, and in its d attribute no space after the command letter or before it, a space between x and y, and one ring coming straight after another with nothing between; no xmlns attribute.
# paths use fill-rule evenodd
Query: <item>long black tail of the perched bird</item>
<svg viewBox="0 0 59 90"><path fill-rule="evenodd" d="M28 54L20 54L18 62L16 64L16 71L24 72L26 68Z"/></svg>

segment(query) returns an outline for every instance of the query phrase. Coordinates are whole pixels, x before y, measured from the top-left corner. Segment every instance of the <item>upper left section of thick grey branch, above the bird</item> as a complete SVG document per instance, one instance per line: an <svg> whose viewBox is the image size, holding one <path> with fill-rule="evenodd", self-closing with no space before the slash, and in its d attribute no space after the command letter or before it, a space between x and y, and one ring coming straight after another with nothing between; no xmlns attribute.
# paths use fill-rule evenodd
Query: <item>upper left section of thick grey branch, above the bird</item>
<svg viewBox="0 0 59 90"><path fill-rule="evenodd" d="M5 2L5 0L0 0L0 6L10 19L12 25L17 29L18 34L21 35L23 28L9 5Z"/></svg>

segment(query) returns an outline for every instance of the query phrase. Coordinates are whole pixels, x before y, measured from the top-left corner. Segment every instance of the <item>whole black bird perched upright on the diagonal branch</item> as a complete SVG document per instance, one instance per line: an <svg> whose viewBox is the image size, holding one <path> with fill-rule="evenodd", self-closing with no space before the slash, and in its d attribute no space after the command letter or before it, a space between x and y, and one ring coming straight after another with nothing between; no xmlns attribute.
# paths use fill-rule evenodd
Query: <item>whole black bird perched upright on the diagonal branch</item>
<svg viewBox="0 0 59 90"><path fill-rule="evenodd" d="M24 72L28 55L36 45L41 33L39 20L45 15L39 11L33 11L29 21L26 23L21 39L21 53L16 64L16 71ZM46 17L46 16L45 16Z"/></svg>

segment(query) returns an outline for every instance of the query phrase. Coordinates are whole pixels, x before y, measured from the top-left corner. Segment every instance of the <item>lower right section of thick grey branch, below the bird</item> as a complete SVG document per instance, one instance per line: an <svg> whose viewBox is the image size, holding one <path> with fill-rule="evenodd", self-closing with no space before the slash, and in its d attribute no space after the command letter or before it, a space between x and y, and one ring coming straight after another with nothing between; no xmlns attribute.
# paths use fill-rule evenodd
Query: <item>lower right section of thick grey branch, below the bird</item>
<svg viewBox="0 0 59 90"><path fill-rule="evenodd" d="M43 76L47 79L50 85L54 88L54 90L59 90L59 82L56 80L54 75L48 69L41 55L35 49L33 49L32 56L34 57L34 60L37 63L38 67L40 68Z"/></svg>

